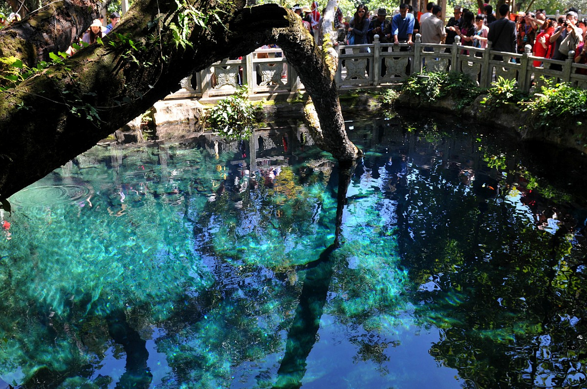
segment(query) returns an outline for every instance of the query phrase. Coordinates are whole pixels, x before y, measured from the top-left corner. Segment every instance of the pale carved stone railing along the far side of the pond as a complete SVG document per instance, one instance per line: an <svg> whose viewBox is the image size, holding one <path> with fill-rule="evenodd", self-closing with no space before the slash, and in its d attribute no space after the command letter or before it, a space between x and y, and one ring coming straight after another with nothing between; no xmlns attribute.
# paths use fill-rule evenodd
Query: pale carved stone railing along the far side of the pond
<svg viewBox="0 0 587 389"><path fill-rule="evenodd" d="M562 62L535 57L529 45L524 54L517 54L492 50L491 42L486 49L477 49L462 46L458 37L456 40L453 45L421 43L417 34L411 47L406 43L399 46L380 43L377 39L370 45L340 46L335 76L338 88L389 87L423 70L463 73L482 87L491 86L500 76L515 79L518 88L525 92L539 85L541 76L587 88L587 65L576 64L572 59ZM535 60L542 66L535 67ZM558 65L560 70L550 69L551 64ZM303 90L295 70L282 57L281 49L265 49L255 50L242 59L223 60L195 73L181 82L181 90L166 99L220 98L233 94L243 84L248 85L251 98L289 96Z"/></svg>

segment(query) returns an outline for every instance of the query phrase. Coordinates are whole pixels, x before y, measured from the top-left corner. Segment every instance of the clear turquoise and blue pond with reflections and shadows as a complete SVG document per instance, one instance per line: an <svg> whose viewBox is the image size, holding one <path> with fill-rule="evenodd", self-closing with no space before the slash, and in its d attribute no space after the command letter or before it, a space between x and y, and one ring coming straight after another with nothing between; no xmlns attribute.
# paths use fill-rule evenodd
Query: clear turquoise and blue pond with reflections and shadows
<svg viewBox="0 0 587 389"><path fill-rule="evenodd" d="M347 125L356 166L274 125L98 145L12 196L0 388L586 387L583 159Z"/></svg>

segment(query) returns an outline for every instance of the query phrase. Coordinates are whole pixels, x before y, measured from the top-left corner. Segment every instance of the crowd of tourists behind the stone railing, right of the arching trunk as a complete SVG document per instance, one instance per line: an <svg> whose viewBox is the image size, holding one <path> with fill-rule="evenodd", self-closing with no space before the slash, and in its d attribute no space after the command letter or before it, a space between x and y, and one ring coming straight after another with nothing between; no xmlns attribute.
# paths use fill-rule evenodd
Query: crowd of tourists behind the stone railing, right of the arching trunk
<svg viewBox="0 0 587 389"><path fill-rule="evenodd" d="M456 6L446 23L442 15L443 9L434 2L427 4L425 13L418 14L414 14L410 5L401 4L399 13L391 19L387 18L384 8L370 15L367 6L360 4L348 23L345 43L372 43L378 35L379 42L407 43L403 49L409 50L416 33L420 33L423 43L446 45L453 44L458 36L463 46L485 48L491 42L492 50L521 54L529 45L531 53L537 57L564 61L572 56L576 63L587 63L587 46L584 45L587 18L580 19L575 8L569 8L558 18L548 18L544 9L511 13L507 4L495 12L490 4L484 4L477 12ZM534 60L534 66L543 65L542 60ZM560 70L562 64L549 63L549 67ZM579 70L587 74L584 69Z"/></svg>

